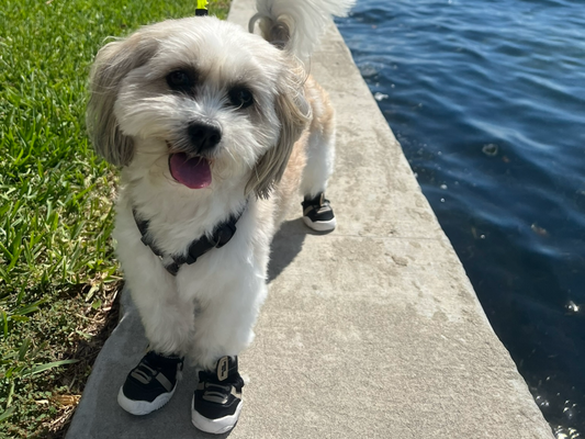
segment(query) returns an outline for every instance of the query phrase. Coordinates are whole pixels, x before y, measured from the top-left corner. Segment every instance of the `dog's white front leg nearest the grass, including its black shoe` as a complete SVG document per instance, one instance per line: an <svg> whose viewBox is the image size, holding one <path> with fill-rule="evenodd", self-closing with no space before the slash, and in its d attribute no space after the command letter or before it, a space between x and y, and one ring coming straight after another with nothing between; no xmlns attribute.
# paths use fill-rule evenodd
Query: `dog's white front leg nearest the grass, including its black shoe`
<svg viewBox="0 0 585 439"><path fill-rule="evenodd" d="M177 293L175 278L140 241L131 210L119 209L114 237L126 285L149 342L148 352L120 389L117 402L133 415L146 415L175 394L187 340L193 333L194 305Z"/></svg>

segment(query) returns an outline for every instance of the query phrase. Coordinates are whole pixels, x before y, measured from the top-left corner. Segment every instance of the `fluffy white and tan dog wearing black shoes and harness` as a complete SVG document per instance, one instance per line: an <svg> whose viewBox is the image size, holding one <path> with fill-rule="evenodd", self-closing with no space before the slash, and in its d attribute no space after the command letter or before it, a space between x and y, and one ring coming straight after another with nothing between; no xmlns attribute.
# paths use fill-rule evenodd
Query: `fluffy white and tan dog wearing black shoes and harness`
<svg viewBox="0 0 585 439"><path fill-rule="evenodd" d="M172 396L183 358L200 368L192 420L230 430L237 356L254 338L269 246L304 196L303 219L335 227L324 198L334 111L300 59L353 0L258 0L263 38L215 18L169 20L104 46L88 126L122 166L114 237L149 351L119 393L145 415Z"/></svg>

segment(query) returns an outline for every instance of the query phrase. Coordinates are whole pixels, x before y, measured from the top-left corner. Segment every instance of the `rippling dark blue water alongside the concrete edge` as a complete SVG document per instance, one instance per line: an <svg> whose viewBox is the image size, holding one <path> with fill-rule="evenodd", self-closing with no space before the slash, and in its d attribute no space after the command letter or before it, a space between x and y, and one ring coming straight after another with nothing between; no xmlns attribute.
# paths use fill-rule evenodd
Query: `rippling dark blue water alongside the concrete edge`
<svg viewBox="0 0 585 439"><path fill-rule="evenodd" d="M359 0L338 26L545 418L585 437L585 1Z"/></svg>

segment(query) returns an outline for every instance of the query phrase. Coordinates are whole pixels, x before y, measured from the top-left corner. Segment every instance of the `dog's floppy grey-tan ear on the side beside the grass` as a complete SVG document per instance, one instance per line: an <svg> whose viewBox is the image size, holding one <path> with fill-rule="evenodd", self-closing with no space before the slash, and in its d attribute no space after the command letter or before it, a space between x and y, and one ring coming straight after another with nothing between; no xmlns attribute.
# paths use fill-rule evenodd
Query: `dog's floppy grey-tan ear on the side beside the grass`
<svg viewBox="0 0 585 439"><path fill-rule="evenodd" d="M128 165L134 155L134 142L122 134L114 115L121 82L150 59L157 47L156 38L138 31L126 40L106 44L95 56L86 121L93 148L113 165Z"/></svg>

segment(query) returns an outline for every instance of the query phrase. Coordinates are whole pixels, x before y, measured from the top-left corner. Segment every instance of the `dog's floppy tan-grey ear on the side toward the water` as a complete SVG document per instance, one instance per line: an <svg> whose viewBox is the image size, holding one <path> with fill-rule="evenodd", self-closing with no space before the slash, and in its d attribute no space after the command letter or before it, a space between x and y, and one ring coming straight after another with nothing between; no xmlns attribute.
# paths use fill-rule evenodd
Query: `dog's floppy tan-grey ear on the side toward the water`
<svg viewBox="0 0 585 439"><path fill-rule="evenodd" d="M302 81L295 74L289 72L286 76L289 78L284 78L274 103L281 125L279 140L258 160L246 187L246 192L254 191L258 198L268 198L273 185L281 180L294 143L311 117L311 106L304 97Z"/></svg>

